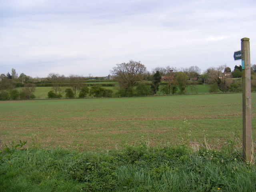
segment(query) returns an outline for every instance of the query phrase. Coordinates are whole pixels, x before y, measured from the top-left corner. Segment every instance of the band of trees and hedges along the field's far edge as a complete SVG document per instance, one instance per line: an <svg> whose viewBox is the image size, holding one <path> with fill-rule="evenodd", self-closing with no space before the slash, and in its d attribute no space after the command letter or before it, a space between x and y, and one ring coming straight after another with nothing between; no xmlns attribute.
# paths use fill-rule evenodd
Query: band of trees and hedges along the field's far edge
<svg viewBox="0 0 256 192"><path fill-rule="evenodd" d="M16 100L36 98L33 92L36 87L50 86L52 91L48 98L84 98L93 97L130 97L154 94L186 94L187 86L195 88L198 84L208 84L209 92L241 92L242 66L234 70L222 65L208 68L201 73L200 68L156 67L148 72L140 62L130 60L128 63L117 64L110 71L108 80L78 75L68 77L50 73L46 78L32 78L22 73L18 76L12 68L11 74L0 74L0 100ZM256 91L256 65L251 67L252 90ZM102 82L102 83L100 83ZM109 83L109 82L118 82ZM118 86L116 86L118 85ZM90 87L90 89L88 88ZM115 87L113 91L103 87ZM20 91L15 88L22 87ZM70 87L64 90L63 87ZM85 91L86 90L86 91ZM81 93L81 95L77 94Z"/></svg>

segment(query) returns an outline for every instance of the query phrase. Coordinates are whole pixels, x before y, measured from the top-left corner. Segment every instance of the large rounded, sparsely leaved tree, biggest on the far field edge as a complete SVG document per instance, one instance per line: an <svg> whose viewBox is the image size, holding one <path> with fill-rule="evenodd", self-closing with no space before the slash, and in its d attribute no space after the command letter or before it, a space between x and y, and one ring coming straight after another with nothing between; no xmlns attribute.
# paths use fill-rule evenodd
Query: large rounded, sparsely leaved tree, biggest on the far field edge
<svg viewBox="0 0 256 192"><path fill-rule="evenodd" d="M116 64L110 71L118 80L121 89L131 90L138 85L147 75L146 67L139 62L130 60L128 63Z"/></svg>

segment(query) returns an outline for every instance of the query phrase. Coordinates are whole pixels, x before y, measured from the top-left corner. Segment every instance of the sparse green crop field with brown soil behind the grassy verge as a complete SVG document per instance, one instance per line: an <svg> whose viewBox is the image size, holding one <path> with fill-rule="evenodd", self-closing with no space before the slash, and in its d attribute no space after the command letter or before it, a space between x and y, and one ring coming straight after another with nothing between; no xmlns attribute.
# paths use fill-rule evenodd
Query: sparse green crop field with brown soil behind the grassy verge
<svg viewBox="0 0 256 192"><path fill-rule="evenodd" d="M28 141L78 151L209 144L220 149L242 138L242 94L87 98L0 102L0 148ZM255 144L256 93L252 93Z"/></svg>

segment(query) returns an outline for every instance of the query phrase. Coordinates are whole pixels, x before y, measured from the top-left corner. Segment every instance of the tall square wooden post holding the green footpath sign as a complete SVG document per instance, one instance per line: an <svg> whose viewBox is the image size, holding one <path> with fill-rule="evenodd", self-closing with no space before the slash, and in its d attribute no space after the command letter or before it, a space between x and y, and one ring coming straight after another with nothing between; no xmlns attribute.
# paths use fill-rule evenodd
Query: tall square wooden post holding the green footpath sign
<svg viewBox="0 0 256 192"><path fill-rule="evenodd" d="M243 158L252 162L252 104L251 104L251 64L249 38L241 39L242 49L242 90L243 90Z"/></svg>

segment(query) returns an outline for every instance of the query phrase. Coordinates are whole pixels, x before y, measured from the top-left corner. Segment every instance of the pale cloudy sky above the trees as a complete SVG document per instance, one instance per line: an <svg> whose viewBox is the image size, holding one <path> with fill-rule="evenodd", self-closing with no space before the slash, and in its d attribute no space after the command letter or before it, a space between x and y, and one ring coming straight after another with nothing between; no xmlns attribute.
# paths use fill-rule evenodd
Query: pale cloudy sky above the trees
<svg viewBox="0 0 256 192"><path fill-rule="evenodd" d="M250 38L256 0L0 0L0 74L107 76L123 62L226 65Z"/></svg>

